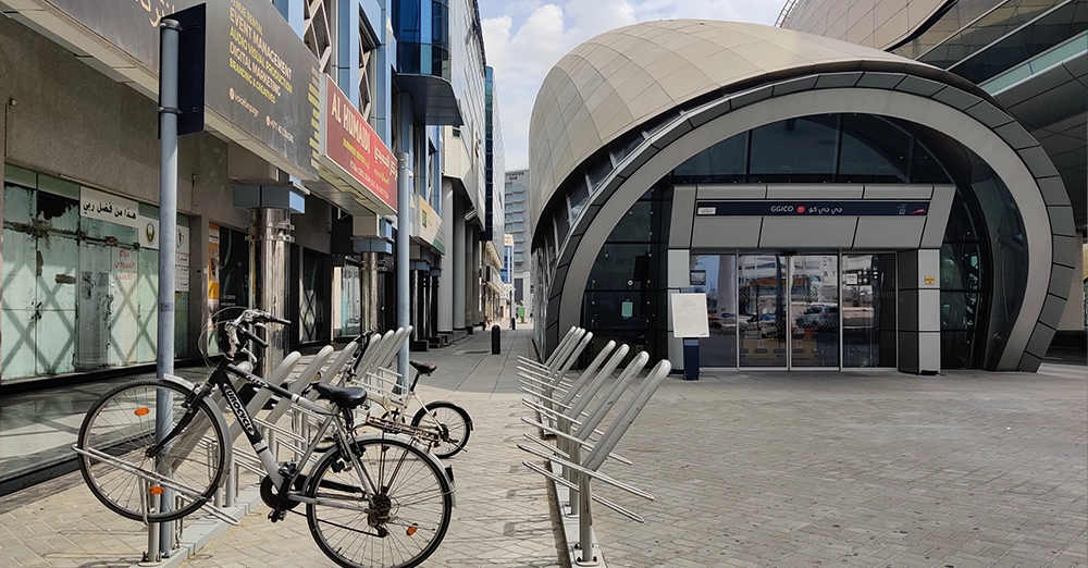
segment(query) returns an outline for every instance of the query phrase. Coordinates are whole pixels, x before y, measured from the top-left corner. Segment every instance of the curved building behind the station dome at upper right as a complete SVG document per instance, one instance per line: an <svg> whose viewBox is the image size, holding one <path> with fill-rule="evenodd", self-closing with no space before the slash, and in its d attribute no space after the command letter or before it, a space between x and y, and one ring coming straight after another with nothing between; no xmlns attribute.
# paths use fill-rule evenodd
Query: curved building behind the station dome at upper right
<svg viewBox="0 0 1088 568"><path fill-rule="evenodd" d="M1088 2L1085 0L839 0L788 2L778 25L913 59L978 85L1050 157L1088 225ZM1077 255L1083 259L1083 255ZM1058 331L1088 325L1088 274L1076 262Z"/></svg>

